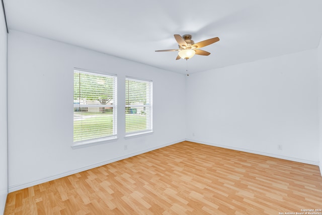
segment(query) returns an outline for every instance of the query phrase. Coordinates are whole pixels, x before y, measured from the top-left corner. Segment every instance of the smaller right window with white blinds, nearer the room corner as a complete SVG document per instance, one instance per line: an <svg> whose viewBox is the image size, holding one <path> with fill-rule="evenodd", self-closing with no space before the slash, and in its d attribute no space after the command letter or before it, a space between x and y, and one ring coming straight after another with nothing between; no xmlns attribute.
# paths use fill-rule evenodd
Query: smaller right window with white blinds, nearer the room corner
<svg viewBox="0 0 322 215"><path fill-rule="evenodd" d="M152 132L152 81L126 77L125 134Z"/></svg>

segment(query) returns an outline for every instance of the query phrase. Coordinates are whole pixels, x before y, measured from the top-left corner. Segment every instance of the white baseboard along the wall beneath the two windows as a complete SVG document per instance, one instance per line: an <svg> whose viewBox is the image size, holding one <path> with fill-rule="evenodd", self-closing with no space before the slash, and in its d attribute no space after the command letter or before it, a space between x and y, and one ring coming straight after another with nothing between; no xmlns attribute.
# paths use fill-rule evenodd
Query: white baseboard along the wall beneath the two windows
<svg viewBox="0 0 322 215"><path fill-rule="evenodd" d="M182 142L182 141L185 141L185 139L180 139L180 140L177 140L177 141L174 141L174 142L169 142L168 144L152 147L152 148L149 148L149 149L146 149L146 150L142 150L142 151L138 151L138 152L131 153L131 154L128 154L128 155L124 155L124 156L121 156L121 157L113 158L113 159L110 159L110 160L107 160L107 161L104 161L104 162L96 163L96 164L86 166L86 167L82 167L82 168L79 168L79 169L70 170L70 171L67 171L67 172L64 172L64 173L61 173L61 174L58 174L58 175L53 175L53 176L42 178L42 179L39 179L39 180L36 180L36 181L31 181L29 183L17 184L17 185L9 186L9 192L14 192L14 191L21 190L21 189L24 189L24 188L27 188L27 187L35 186L37 184L41 184L41 183L52 181L52 180L55 180L55 179L58 179L58 178L66 177L66 176L69 176L69 175L72 175L72 174L75 174L75 173L90 170L90 169L100 167L100 166L103 166L103 165L106 165L106 164L110 164L110 163L113 163L113 162L116 162L116 161L120 161L120 160L123 160L123 159L126 159L126 158L137 156L137 155L140 155L140 154L143 154L143 153L146 153L146 152L150 152L150 151L153 151L153 150L157 150L157 149L160 149L160 148L164 148L164 147L167 147L167 146L178 144L178 142Z"/></svg>

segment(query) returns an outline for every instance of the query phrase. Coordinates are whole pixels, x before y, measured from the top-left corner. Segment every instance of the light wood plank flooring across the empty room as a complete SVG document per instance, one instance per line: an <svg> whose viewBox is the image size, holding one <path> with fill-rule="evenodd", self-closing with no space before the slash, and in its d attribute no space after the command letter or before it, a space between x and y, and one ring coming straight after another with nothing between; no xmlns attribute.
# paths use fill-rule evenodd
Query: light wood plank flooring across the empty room
<svg viewBox="0 0 322 215"><path fill-rule="evenodd" d="M184 141L9 193L5 214L295 214L301 209L322 209L317 166Z"/></svg>

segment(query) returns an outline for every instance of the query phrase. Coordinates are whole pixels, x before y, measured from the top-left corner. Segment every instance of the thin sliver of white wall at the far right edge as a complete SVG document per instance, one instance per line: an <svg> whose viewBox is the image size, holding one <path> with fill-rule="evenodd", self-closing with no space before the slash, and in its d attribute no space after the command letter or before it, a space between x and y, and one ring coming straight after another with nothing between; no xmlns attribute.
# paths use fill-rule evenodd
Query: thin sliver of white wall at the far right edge
<svg viewBox="0 0 322 215"><path fill-rule="evenodd" d="M319 168L322 176L322 37L317 48L318 113L319 113Z"/></svg>

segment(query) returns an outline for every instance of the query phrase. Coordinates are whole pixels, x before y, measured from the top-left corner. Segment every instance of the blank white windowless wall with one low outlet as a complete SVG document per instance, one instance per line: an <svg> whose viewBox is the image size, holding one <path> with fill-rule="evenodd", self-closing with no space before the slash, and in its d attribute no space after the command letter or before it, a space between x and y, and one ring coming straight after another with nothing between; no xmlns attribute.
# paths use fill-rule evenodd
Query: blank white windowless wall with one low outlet
<svg viewBox="0 0 322 215"><path fill-rule="evenodd" d="M313 49L190 75L187 138L318 165L316 56Z"/></svg>

